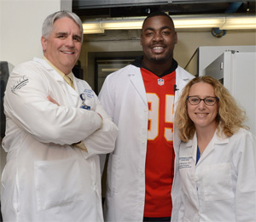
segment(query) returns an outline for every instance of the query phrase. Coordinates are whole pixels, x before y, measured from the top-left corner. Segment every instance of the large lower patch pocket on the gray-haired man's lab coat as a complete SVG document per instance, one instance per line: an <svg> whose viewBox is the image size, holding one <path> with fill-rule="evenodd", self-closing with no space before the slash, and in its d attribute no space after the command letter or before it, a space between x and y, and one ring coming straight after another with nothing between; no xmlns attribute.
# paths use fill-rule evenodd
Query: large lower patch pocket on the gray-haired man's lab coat
<svg viewBox="0 0 256 222"><path fill-rule="evenodd" d="M77 158L34 163L38 210L83 200Z"/></svg>

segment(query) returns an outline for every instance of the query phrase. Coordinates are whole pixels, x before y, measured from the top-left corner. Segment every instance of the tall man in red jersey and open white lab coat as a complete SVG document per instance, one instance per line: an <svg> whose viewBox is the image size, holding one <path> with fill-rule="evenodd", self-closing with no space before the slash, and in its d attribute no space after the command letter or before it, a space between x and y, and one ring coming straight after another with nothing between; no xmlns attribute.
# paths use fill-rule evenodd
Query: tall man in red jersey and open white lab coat
<svg viewBox="0 0 256 222"><path fill-rule="evenodd" d="M149 14L143 56L103 84L99 98L119 128L108 160L106 221L171 220L174 104L193 78L173 59L176 43L170 16Z"/></svg>

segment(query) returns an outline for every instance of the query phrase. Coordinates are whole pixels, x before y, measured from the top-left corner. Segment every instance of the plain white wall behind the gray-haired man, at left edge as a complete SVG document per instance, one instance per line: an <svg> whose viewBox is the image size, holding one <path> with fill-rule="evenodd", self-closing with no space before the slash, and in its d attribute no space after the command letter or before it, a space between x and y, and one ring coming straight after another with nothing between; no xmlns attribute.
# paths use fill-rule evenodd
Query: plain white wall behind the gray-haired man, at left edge
<svg viewBox="0 0 256 222"><path fill-rule="evenodd" d="M41 58L44 19L62 9L71 11L72 0L0 0L0 60L8 61L12 67L33 57ZM0 175L5 158L0 145Z"/></svg>

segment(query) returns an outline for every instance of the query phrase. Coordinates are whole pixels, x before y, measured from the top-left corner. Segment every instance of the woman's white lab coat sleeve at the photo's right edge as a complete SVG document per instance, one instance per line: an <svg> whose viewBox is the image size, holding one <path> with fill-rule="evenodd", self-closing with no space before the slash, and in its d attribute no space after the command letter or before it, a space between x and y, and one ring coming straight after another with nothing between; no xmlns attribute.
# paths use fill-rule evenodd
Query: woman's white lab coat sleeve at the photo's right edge
<svg viewBox="0 0 256 222"><path fill-rule="evenodd" d="M236 168L236 221L256 221L256 140L253 134L239 134L233 164Z"/></svg>

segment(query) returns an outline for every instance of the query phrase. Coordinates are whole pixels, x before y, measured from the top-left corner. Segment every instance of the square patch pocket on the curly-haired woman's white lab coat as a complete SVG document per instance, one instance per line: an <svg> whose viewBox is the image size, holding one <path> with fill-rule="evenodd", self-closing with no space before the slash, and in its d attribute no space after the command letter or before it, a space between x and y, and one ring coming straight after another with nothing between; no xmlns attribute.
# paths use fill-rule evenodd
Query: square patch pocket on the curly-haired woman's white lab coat
<svg viewBox="0 0 256 222"><path fill-rule="evenodd" d="M231 164L220 163L204 168L203 189L206 201L234 198Z"/></svg>

